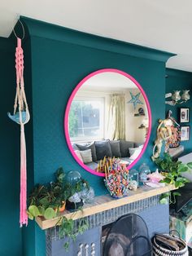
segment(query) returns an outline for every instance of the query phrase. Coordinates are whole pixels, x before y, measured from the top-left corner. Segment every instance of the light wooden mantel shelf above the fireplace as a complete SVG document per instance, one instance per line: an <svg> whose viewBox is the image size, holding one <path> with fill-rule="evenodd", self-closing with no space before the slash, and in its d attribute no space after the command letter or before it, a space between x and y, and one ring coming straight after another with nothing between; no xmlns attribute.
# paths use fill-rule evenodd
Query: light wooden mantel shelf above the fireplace
<svg viewBox="0 0 192 256"><path fill-rule="evenodd" d="M110 210L121 205L127 205L135 201L140 201L151 196L157 196L174 189L175 188L172 185L168 185L163 188L148 188L144 186L142 188L138 188L136 192L130 191L129 196L125 196L120 199L114 199L110 195L96 196L94 203L91 205L84 205L83 210L78 210L73 213L65 210L60 216L64 215L66 218L72 219L83 218L92 214L98 214L104 210ZM55 227L57 224L59 225L59 219L60 217L51 219L37 217L36 222L38 223L39 227L44 230L50 227Z"/></svg>

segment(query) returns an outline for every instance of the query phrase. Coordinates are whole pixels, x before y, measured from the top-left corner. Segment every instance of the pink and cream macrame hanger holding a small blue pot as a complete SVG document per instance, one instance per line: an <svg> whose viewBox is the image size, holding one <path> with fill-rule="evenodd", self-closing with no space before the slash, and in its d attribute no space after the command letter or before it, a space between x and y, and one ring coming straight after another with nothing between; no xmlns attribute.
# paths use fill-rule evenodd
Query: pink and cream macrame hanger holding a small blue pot
<svg viewBox="0 0 192 256"><path fill-rule="evenodd" d="M28 224L27 214L27 161L24 125L29 121L27 99L24 92L24 51L21 39L17 38L15 51L16 95L14 113L8 113L11 120L20 124L20 227Z"/></svg>

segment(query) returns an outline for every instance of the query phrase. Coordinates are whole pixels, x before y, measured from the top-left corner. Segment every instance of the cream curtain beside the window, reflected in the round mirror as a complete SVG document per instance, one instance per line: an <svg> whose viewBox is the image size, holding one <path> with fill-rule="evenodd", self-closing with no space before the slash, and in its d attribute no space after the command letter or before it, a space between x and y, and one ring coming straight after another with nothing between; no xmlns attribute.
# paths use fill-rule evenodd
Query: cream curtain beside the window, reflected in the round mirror
<svg viewBox="0 0 192 256"><path fill-rule="evenodd" d="M125 102L123 94L110 96L108 136L110 139L125 139Z"/></svg>

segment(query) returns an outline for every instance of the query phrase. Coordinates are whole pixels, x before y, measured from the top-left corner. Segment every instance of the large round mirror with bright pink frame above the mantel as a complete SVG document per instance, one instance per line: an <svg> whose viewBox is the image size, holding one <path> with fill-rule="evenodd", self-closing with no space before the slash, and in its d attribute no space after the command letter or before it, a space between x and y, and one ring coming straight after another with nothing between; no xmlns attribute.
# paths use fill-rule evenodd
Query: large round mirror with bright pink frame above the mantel
<svg viewBox="0 0 192 256"><path fill-rule="evenodd" d="M98 70L72 91L64 129L72 156L90 173L104 176L103 166L114 158L131 169L150 138L150 104L129 74Z"/></svg>

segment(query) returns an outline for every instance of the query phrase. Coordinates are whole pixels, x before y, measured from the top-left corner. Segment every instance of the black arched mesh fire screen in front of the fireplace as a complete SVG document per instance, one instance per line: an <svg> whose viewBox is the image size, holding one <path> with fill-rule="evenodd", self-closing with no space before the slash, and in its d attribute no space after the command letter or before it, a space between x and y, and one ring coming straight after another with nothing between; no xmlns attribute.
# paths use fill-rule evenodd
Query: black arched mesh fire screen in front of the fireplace
<svg viewBox="0 0 192 256"><path fill-rule="evenodd" d="M151 256L151 238L143 218L126 214L103 227L103 256Z"/></svg>

